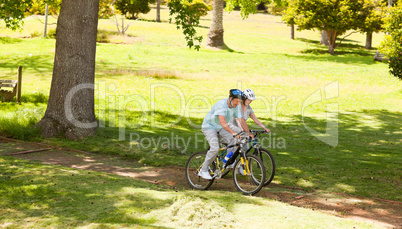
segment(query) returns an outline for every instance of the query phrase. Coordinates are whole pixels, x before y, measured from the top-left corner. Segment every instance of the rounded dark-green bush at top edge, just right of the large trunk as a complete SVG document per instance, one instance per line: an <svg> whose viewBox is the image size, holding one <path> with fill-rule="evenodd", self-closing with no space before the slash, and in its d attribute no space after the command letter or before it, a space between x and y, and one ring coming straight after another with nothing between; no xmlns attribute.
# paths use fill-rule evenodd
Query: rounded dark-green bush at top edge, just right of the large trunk
<svg viewBox="0 0 402 229"><path fill-rule="evenodd" d="M138 14L146 14L151 10L149 3L152 2L149 0L117 0L114 5L127 18L137 19Z"/></svg>

